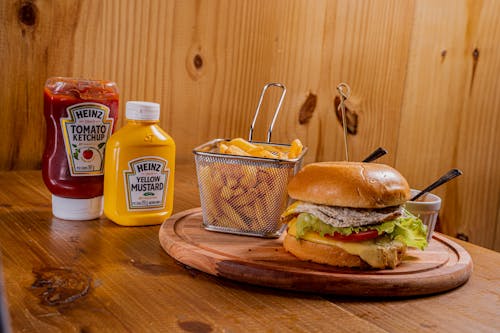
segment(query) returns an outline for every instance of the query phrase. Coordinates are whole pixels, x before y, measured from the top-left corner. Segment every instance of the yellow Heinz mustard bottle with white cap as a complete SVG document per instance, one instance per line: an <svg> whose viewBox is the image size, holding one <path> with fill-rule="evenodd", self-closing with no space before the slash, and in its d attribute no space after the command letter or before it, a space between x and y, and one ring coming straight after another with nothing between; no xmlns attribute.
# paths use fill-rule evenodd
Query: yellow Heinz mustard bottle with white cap
<svg viewBox="0 0 500 333"><path fill-rule="evenodd" d="M104 214L123 226L161 224L173 209L175 142L157 103L127 102L126 118L106 146Z"/></svg>

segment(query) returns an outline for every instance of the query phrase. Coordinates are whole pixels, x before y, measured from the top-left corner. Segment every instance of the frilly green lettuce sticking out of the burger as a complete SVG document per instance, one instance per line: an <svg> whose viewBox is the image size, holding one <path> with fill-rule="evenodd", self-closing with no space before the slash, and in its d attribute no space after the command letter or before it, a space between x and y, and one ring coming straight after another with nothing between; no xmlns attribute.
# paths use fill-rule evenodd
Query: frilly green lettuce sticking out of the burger
<svg viewBox="0 0 500 333"><path fill-rule="evenodd" d="M419 218L408 211L405 211L403 216L392 221L362 227L346 228L333 227L323 223L312 214L300 213L297 216L296 228L297 238L303 237L309 231L317 232L321 236L332 235L334 232L348 236L354 232L377 230L379 236L387 235L391 240L398 240L405 243L407 246L416 247L421 250L427 246L427 227Z"/></svg>

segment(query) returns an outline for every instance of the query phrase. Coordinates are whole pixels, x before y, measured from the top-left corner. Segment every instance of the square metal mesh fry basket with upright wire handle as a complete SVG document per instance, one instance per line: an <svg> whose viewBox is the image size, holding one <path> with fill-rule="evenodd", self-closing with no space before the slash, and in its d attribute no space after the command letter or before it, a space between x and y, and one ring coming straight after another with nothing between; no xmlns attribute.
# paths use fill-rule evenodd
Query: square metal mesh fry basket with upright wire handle
<svg viewBox="0 0 500 333"><path fill-rule="evenodd" d="M268 129L267 142L255 142L252 141L255 121L270 86L283 91ZM250 126L250 142L276 149L290 148L289 144L270 142L285 94L286 88L280 83L264 86ZM289 203L287 185L300 169L307 148L289 160L219 153L219 144L228 141L215 139L193 150L204 228L238 235L279 237L285 228L280 215Z"/></svg>

